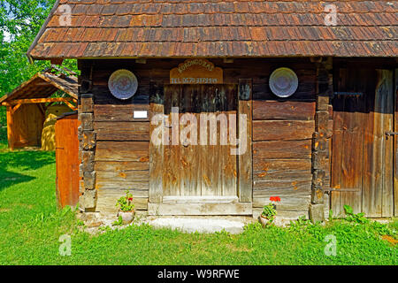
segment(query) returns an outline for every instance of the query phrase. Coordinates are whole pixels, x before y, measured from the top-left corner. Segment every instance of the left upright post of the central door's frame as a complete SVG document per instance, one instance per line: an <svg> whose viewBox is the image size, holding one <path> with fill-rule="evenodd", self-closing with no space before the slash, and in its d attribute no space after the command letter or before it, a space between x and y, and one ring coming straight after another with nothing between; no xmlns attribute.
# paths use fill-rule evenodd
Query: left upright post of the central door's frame
<svg viewBox="0 0 398 283"><path fill-rule="evenodd" d="M149 118L164 114L164 86L162 82L150 82ZM149 139L158 125L149 126ZM163 202L164 146L149 141L149 203Z"/></svg>

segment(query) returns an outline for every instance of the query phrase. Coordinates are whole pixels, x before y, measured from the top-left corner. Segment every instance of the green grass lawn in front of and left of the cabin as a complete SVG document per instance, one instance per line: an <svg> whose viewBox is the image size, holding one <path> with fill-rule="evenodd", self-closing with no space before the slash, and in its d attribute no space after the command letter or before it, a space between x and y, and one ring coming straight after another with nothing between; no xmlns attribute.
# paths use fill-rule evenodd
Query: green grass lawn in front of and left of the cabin
<svg viewBox="0 0 398 283"><path fill-rule="evenodd" d="M79 232L72 210L57 210L53 152L9 152L0 128L0 264L397 264L398 221L356 225L333 221L290 228L248 226L240 235L130 226L98 236ZM72 256L58 239L72 236ZM325 256L325 236L337 256Z"/></svg>

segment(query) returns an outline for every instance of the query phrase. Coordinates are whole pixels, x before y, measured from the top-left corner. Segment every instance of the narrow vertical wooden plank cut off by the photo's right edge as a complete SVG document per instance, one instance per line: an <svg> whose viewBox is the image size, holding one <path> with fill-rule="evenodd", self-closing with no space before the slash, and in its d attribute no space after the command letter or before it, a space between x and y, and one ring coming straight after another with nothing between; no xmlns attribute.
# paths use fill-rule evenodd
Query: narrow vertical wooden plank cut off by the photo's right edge
<svg viewBox="0 0 398 283"><path fill-rule="evenodd" d="M394 72L394 132L398 132L398 69ZM398 136L394 135L394 216L398 216Z"/></svg>

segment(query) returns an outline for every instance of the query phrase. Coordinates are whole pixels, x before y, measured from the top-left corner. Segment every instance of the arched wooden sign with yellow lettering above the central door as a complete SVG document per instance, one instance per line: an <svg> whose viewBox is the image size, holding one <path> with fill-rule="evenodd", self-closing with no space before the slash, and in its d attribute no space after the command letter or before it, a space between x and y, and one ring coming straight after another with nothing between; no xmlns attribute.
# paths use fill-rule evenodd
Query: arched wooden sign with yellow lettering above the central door
<svg viewBox="0 0 398 283"><path fill-rule="evenodd" d="M188 59L170 71L170 83L173 85L202 85L224 83L223 69L214 66L206 59Z"/></svg>

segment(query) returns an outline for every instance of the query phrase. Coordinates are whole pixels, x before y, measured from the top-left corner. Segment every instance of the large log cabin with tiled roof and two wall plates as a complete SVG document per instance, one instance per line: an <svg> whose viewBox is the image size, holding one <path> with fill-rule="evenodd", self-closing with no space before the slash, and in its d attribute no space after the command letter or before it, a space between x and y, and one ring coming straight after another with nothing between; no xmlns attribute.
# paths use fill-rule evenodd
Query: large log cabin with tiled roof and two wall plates
<svg viewBox="0 0 398 283"><path fill-rule="evenodd" d="M60 4L28 57L78 59L81 210L398 215L396 2Z"/></svg>

